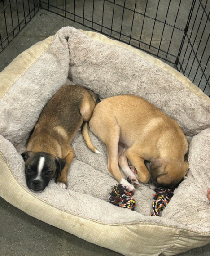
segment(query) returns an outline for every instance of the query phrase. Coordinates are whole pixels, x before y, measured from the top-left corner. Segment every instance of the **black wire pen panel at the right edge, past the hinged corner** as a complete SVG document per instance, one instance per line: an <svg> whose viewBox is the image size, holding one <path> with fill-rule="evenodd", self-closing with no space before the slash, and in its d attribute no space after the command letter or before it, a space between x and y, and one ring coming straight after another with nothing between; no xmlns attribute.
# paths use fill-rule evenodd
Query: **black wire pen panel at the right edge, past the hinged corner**
<svg viewBox="0 0 210 256"><path fill-rule="evenodd" d="M210 96L210 1L194 0L179 56L179 71Z"/></svg>

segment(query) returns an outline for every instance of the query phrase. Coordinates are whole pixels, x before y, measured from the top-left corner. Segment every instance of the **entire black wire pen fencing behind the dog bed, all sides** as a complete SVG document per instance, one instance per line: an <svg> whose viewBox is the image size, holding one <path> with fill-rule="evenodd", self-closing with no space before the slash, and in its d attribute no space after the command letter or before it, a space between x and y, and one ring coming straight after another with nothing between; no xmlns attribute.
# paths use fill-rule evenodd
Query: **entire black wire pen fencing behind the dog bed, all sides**
<svg viewBox="0 0 210 256"><path fill-rule="evenodd" d="M0 0L0 52L40 6L176 64L210 95L210 1Z"/></svg>

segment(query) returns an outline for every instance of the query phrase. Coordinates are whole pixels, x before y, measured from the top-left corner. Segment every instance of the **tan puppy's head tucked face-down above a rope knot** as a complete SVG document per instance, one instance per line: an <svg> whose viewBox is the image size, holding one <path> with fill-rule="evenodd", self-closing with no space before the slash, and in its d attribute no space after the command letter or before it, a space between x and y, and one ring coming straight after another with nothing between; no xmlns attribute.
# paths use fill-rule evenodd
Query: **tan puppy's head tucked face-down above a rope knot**
<svg viewBox="0 0 210 256"><path fill-rule="evenodd" d="M187 174L188 162L152 159L150 162L151 182L155 185L174 188Z"/></svg>

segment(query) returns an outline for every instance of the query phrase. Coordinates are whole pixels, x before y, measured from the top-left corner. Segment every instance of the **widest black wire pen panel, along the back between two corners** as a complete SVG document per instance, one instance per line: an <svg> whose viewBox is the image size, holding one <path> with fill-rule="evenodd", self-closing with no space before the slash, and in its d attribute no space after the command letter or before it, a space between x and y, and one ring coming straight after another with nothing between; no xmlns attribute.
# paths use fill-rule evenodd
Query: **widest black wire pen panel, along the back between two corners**
<svg viewBox="0 0 210 256"><path fill-rule="evenodd" d="M192 0L44 0L42 7L175 63Z"/></svg>

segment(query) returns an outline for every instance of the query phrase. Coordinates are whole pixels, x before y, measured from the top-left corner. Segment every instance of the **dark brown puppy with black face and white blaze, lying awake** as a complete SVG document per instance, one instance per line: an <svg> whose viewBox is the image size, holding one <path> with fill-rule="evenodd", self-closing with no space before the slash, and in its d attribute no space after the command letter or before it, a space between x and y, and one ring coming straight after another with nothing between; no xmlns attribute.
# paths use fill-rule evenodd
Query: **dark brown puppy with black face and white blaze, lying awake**
<svg viewBox="0 0 210 256"><path fill-rule="evenodd" d="M26 183L31 190L44 190L57 172L57 184L66 188L74 157L70 142L99 101L95 93L78 85L61 87L49 100L28 141L27 152L22 153Z"/></svg>

